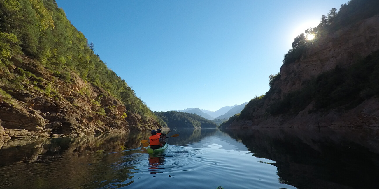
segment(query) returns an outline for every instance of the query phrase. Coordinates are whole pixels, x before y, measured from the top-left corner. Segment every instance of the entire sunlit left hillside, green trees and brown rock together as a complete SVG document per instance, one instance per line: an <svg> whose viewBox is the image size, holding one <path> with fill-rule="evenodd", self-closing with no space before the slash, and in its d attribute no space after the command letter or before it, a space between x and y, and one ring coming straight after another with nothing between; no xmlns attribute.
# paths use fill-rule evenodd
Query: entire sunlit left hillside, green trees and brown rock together
<svg viewBox="0 0 379 189"><path fill-rule="evenodd" d="M0 119L8 134L157 127L157 116L93 49L55 0L0 0ZM35 120L36 128L23 128Z"/></svg>

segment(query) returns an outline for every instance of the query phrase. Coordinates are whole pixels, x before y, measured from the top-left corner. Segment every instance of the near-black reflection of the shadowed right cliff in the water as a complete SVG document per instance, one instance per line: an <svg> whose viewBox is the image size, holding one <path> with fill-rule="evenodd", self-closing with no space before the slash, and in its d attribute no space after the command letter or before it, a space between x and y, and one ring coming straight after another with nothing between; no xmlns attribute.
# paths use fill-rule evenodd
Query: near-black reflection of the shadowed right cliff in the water
<svg viewBox="0 0 379 189"><path fill-rule="evenodd" d="M378 129L227 130L254 156L276 161L282 183L299 189L377 188Z"/></svg>

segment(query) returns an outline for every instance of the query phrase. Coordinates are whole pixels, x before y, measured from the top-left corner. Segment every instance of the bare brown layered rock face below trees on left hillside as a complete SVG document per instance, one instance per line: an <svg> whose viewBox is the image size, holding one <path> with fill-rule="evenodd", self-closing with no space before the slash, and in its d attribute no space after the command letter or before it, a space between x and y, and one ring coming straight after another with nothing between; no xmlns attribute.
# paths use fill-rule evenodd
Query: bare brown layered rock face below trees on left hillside
<svg viewBox="0 0 379 189"><path fill-rule="evenodd" d="M32 75L19 81L22 87L2 84L6 93L0 93L0 138L161 128L156 119L141 119L138 113L128 112L110 93L84 82L75 73L70 73L66 82L28 57L15 57L12 62L9 73L22 76L28 71ZM5 72L1 70L0 75L9 76Z"/></svg>

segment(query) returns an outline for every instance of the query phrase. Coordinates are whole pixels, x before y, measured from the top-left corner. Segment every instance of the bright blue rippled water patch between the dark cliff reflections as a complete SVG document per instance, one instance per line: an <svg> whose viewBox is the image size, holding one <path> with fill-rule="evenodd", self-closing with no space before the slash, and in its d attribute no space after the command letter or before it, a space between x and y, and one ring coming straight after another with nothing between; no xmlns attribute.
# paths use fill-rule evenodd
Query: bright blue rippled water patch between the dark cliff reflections
<svg viewBox="0 0 379 189"><path fill-rule="evenodd" d="M279 183L277 167L270 164L273 161L257 158L242 150L223 150L221 146L211 143L204 148L169 145L165 152L156 155L144 153L139 160L134 162L135 170L138 170L133 174L134 183L128 187L145 188L149 186L146 181L156 179L171 183L171 188L205 185L229 186L227 188L288 186ZM196 183L193 183L194 180Z"/></svg>

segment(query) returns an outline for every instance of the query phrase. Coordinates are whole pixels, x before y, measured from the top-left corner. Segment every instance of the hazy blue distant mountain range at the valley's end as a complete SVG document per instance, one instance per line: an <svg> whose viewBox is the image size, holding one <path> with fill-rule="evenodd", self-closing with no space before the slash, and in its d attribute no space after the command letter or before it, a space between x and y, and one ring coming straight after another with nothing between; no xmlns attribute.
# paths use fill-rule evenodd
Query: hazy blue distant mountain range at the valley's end
<svg viewBox="0 0 379 189"><path fill-rule="evenodd" d="M176 112L188 112L197 114L205 119L229 119L231 116L236 113L240 113L241 110L245 107L247 102L240 105L225 106L216 110L215 112L209 110L200 110L199 108L187 108L185 110L173 110Z"/></svg>

